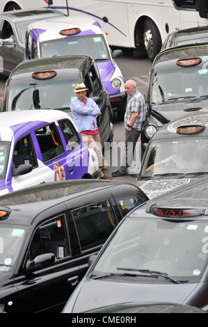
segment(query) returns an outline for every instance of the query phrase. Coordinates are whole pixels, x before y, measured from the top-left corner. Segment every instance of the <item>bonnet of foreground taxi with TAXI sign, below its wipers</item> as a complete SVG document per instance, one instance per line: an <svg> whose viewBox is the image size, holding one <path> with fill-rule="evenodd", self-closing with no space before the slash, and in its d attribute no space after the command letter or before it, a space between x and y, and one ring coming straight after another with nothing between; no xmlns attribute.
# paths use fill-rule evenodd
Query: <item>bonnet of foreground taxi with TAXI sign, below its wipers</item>
<svg viewBox="0 0 208 327"><path fill-rule="evenodd" d="M117 278L118 280L118 278ZM145 301L163 301L173 303L183 303L187 296L193 292L198 285L196 283L188 284L167 284L155 283L155 278L150 278L147 282L123 282L124 278L118 282L105 280L93 280L83 278L74 296L65 305L64 312L84 312L105 305L113 305L124 302L145 302ZM75 296L77 297L75 298ZM68 309L67 309L68 307Z"/></svg>

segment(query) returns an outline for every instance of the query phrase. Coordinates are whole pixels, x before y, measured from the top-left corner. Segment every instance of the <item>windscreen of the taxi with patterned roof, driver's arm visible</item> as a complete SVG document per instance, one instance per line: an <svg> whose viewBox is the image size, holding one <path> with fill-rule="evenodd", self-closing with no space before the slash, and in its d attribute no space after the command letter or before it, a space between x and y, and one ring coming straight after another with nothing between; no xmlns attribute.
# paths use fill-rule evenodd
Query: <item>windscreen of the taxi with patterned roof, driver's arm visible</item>
<svg viewBox="0 0 208 327"><path fill-rule="evenodd" d="M207 138L192 136L168 141L152 141L145 155L141 178L165 174L208 174L207 151Z"/></svg>

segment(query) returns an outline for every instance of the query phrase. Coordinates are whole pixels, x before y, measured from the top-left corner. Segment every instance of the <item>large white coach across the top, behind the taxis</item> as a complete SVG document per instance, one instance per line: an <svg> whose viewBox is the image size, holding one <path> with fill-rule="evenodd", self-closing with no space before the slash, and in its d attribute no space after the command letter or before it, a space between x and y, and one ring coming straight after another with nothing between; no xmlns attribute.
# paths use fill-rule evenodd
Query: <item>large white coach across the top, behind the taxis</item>
<svg viewBox="0 0 208 327"><path fill-rule="evenodd" d="M109 45L147 52L150 60L168 33L207 25L208 0L0 0L0 11L51 6L66 15L90 15L101 24Z"/></svg>

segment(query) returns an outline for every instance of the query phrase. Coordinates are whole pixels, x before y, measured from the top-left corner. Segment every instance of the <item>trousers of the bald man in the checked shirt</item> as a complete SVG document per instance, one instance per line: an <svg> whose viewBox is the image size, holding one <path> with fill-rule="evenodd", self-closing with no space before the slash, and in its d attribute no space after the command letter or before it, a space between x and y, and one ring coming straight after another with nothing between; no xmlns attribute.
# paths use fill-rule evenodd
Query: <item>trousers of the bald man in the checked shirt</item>
<svg viewBox="0 0 208 327"><path fill-rule="evenodd" d="M141 131L136 128L132 128L131 131L125 129L125 155L122 158L122 164L120 170L126 171L128 167L131 167L131 163L134 159L134 150L136 142L140 136Z"/></svg>

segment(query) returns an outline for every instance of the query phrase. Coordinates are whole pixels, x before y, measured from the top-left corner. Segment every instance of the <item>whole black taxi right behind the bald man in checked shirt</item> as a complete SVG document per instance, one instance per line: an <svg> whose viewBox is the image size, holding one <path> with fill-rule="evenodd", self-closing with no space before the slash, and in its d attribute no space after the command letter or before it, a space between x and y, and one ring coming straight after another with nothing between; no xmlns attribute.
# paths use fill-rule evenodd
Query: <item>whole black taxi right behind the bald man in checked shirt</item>
<svg viewBox="0 0 208 327"><path fill-rule="evenodd" d="M157 127L208 106L208 45L164 49L154 59L147 93L142 154ZM149 127L150 125L150 127Z"/></svg>

